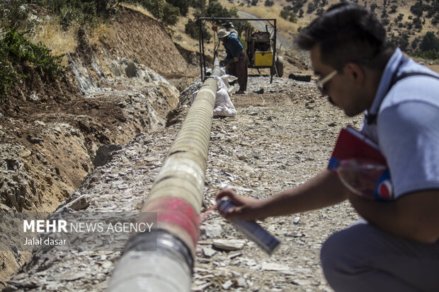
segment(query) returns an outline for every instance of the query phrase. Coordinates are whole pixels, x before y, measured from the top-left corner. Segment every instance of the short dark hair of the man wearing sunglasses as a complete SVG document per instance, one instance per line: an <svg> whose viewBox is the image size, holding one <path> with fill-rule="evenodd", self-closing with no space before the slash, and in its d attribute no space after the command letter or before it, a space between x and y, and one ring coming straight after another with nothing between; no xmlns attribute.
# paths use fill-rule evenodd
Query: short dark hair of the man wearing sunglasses
<svg viewBox="0 0 439 292"><path fill-rule="evenodd" d="M300 34L297 45L306 50L319 45L321 62L338 70L348 62L383 69L388 59L379 56L389 47L383 25L352 2L331 6Z"/></svg>

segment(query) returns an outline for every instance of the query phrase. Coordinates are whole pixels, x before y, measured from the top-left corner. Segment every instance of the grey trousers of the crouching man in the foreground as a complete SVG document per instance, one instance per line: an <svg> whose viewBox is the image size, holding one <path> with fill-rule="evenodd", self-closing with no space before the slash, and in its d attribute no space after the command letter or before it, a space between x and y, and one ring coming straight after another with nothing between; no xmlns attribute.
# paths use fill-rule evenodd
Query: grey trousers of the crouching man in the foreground
<svg viewBox="0 0 439 292"><path fill-rule="evenodd" d="M320 259L335 291L439 291L439 240L397 238L362 220L331 235Z"/></svg>

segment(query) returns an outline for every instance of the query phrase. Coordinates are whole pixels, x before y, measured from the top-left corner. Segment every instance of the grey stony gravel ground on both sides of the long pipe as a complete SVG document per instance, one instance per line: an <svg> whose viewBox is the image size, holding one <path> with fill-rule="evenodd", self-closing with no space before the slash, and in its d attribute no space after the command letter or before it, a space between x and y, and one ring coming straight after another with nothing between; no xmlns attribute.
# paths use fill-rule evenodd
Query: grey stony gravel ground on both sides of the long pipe
<svg viewBox="0 0 439 292"><path fill-rule="evenodd" d="M269 80L251 76L248 92L232 95L236 117L214 119L204 209L226 187L263 198L300 185L326 167L341 127L360 126L360 119L343 117L319 97L312 83ZM86 212L138 210L187 109L181 107L170 127L138 134L115 151L65 204ZM268 218L263 226L282 241L268 257L214 212L201 226L193 291L331 291L321 274L319 249L328 235L357 218L346 203ZM6 282L6 291L104 291L122 247L114 252L36 248L30 262Z"/></svg>

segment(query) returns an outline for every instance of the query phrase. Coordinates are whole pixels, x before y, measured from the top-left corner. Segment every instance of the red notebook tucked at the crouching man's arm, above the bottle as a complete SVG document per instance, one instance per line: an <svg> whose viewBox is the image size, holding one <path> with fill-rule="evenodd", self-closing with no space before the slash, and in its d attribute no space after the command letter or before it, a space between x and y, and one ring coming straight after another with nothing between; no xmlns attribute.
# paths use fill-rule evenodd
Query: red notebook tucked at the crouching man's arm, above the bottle
<svg viewBox="0 0 439 292"><path fill-rule="evenodd" d="M329 160L329 170L336 170L341 160L349 158L365 158L383 165L387 164L375 141L350 126L341 129L338 134L336 146Z"/></svg>

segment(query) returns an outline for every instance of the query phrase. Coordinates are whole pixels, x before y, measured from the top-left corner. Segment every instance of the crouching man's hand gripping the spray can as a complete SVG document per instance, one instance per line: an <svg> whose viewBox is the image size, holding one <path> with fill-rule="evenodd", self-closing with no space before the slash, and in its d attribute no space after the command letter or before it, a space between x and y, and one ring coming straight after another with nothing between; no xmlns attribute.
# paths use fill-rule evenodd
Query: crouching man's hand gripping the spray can
<svg viewBox="0 0 439 292"><path fill-rule="evenodd" d="M230 201L236 206L229 209L227 213L221 213L221 215L230 220L234 218L241 218L245 220L265 219L261 216L262 200L253 199L250 197L241 196L236 194L233 189L224 189L217 194L216 199L223 197L229 197Z"/></svg>

